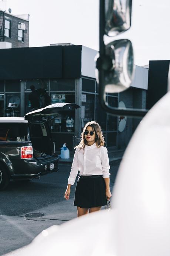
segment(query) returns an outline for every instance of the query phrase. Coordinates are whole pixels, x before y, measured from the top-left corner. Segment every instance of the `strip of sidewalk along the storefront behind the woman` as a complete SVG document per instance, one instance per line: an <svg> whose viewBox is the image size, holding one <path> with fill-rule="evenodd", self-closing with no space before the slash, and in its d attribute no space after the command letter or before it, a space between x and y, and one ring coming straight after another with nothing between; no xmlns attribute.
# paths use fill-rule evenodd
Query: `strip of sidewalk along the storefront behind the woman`
<svg viewBox="0 0 170 256"><path fill-rule="evenodd" d="M109 164L112 165L114 161L122 160L123 154L125 152L125 148L118 150L108 150L108 156L109 156ZM70 158L62 159L59 158L60 164L68 164L71 165L73 161L74 154L70 153Z"/></svg>

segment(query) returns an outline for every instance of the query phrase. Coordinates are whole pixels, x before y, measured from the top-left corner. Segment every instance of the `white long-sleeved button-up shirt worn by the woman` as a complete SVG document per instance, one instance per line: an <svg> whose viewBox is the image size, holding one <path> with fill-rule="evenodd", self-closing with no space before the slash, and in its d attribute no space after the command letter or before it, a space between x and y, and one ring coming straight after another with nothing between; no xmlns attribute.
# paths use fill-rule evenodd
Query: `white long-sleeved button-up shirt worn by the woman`
<svg viewBox="0 0 170 256"><path fill-rule="evenodd" d="M109 157L107 148L97 147L96 143L85 148L76 148L68 184L74 185L78 171L80 175L103 175L109 178Z"/></svg>

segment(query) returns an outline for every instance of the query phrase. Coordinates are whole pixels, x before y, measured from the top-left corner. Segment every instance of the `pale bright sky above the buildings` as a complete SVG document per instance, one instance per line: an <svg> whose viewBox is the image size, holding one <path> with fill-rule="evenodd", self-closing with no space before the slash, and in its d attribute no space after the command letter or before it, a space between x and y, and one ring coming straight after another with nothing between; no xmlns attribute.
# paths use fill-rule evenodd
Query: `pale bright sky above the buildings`
<svg viewBox="0 0 170 256"><path fill-rule="evenodd" d="M73 43L99 50L99 0L0 0L11 14L30 14L30 47ZM135 64L170 59L169 0L133 0L132 26L114 38L132 41Z"/></svg>

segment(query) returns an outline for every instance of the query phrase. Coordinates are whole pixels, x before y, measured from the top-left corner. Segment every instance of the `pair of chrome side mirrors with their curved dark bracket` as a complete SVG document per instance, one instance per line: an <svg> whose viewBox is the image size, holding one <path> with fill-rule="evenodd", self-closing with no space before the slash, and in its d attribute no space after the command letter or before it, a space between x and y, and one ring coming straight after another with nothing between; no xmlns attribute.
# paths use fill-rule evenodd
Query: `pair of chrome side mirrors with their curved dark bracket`
<svg viewBox="0 0 170 256"><path fill-rule="evenodd" d="M107 102L108 93L122 92L130 87L133 79L133 48L128 39L112 40L105 45L104 36L115 36L131 25L132 0L100 0L100 51L96 60L99 98L102 108L116 116L142 117L147 111L116 108Z"/></svg>

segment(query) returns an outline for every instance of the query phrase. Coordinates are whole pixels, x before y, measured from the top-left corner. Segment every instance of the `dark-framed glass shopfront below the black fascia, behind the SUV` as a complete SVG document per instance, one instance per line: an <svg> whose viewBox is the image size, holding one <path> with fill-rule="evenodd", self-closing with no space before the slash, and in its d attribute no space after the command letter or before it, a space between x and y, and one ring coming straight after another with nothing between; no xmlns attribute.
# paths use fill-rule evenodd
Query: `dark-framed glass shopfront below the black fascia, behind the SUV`
<svg viewBox="0 0 170 256"><path fill-rule="evenodd" d="M63 113L54 117L50 121L50 127L53 137L56 141L56 150L59 151L64 142L72 151L74 146L79 143L79 136L86 122L96 120L102 127L103 134L107 143L107 147L116 147L116 138L118 136L118 118L106 114L101 109L97 92L97 84L95 79L82 77L81 79L26 79L22 81L1 81L1 116L24 116L31 111L30 86L34 85L36 89L45 85L47 93L51 97L51 104L57 102L76 103L79 101L81 111L75 116L75 111ZM76 84L79 83L79 86ZM81 88L82 85L82 88ZM78 87L78 90L76 90ZM24 88L24 90L23 90ZM4 90L3 90L4 89ZM78 91L81 96L76 99ZM115 106L118 104L118 96L109 96ZM21 107L24 106L23 107ZM41 97L40 97L41 107ZM23 112L24 109L24 112ZM79 112L79 110L77 110ZM79 118L80 117L80 118ZM80 122L78 121L80 120ZM79 122L79 124L78 124ZM75 129L75 124L76 129Z"/></svg>

